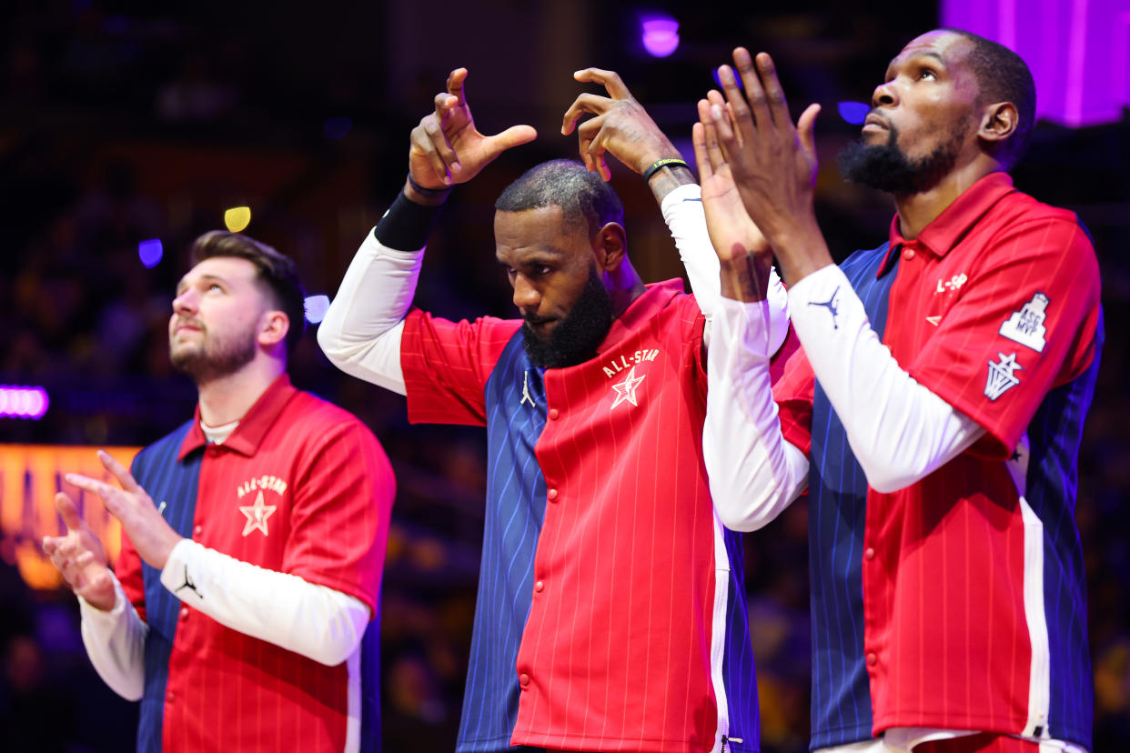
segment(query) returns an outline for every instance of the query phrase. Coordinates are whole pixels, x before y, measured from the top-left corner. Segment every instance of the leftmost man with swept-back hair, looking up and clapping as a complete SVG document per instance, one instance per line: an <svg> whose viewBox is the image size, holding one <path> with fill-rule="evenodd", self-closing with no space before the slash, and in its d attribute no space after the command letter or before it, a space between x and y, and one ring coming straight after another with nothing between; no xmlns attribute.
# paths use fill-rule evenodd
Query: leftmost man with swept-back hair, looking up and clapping
<svg viewBox="0 0 1130 753"><path fill-rule="evenodd" d="M139 751L380 750L380 592L394 482L356 418L290 386L304 299L294 262L208 233L176 286L173 365L195 415L121 488L77 474L122 524L111 572L66 493L44 551L79 596L82 640L141 700Z"/></svg>

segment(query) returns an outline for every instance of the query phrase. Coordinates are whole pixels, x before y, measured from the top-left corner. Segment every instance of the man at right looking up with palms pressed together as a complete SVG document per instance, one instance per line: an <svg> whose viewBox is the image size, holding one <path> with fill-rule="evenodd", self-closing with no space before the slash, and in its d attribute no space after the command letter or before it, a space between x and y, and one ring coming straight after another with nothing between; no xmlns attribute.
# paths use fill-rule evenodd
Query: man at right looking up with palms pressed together
<svg viewBox="0 0 1130 753"><path fill-rule="evenodd" d="M1074 510L1098 268L1075 214L1008 176L1033 125L1027 67L951 29L902 50L842 159L893 195L890 237L837 268L812 211L818 108L793 128L770 56L733 59L746 94L723 67L725 96L699 103L704 199L732 190L767 237L803 356L771 393L762 314L740 303L764 261L724 259L711 395L755 380L762 400L712 404L707 431L776 475L707 463L738 528L808 487L812 748L1089 747ZM734 213L709 207L712 231Z"/></svg>

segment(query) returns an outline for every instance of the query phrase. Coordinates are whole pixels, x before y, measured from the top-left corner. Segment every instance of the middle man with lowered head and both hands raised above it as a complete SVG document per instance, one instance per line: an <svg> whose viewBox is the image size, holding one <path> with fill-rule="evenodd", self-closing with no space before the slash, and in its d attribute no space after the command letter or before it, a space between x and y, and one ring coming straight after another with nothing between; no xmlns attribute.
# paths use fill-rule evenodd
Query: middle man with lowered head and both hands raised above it
<svg viewBox="0 0 1130 753"><path fill-rule="evenodd" d="M594 115L577 129L594 172L538 165L495 204L495 256L522 318L409 312L416 249L446 186L536 135L479 134L466 76L451 73L412 131L405 189L319 332L344 370L406 394L412 421L487 427L457 750L756 751L741 542L719 523L702 464L703 310L719 278L697 189L680 186L681 160L662 161L678 152L619 78L586 69L577 80L610 96L581 95L563 132ZM606 152L649 176L699 300L677 280L645 286L632 268L620 201L601 180ZM775 350L786 322L780 283L771 290Z"/></svg>

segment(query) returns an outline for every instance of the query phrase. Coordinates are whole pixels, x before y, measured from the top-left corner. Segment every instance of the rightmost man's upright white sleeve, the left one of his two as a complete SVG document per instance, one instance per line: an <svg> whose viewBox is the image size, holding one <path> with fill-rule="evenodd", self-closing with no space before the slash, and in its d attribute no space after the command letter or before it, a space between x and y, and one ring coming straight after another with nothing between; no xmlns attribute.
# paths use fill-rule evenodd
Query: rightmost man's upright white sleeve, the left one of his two
<svg viewBox="0 0 1130 753"><path fill-rule="evenodd" d="M803 490L805 453L784 439L771 385L767 301L719 298L707 351L703 458L722 524L756 531Z"/></svg>

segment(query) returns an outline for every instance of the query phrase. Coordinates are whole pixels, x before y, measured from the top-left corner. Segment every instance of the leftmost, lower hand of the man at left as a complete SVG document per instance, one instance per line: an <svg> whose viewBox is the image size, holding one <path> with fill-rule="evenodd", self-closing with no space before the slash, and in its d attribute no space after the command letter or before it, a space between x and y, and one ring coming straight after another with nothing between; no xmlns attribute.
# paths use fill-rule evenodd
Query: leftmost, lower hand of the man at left
<svg viewBox="0 0 1130 753"><path fill-rule="evenodd" d="M77 595L99 610L114 606L114 581L106 550L78 514L71 498L55 494L55 509L67 526L62 536L44 536L43 551Z"/></svg>

